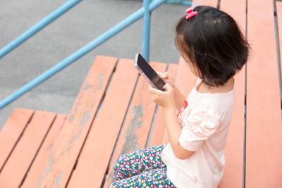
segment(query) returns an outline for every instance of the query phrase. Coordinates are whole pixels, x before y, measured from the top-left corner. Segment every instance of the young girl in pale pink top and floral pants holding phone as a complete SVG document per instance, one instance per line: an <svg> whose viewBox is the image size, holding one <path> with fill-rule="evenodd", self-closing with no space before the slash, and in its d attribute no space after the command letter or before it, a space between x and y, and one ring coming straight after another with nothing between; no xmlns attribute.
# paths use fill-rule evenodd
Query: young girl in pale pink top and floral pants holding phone
<svg viewBox="0 0 282 188"><path fill-rule="evenodd" d="M114 163L117 182L110 187L208 188L221 181L233 112L233 76L246 63L250 46L223 11L196 6L187 13L176 26L176 45L199 79L186 98L170 73L159 73L166 91L149 87L149 92L164 109L170 143L119 157Z"/></svg>

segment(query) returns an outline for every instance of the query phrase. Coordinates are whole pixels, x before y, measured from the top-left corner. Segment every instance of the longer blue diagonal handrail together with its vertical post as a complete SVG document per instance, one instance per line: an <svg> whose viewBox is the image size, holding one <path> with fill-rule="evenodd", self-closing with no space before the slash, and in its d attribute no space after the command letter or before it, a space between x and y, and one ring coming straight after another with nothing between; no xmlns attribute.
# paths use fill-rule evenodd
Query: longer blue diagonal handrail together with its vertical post
<svg viewBox="0 0 282 188"><path fill-rule="evenodd" d="M12 101L18 99L18 97L22 96L26 92L30 91L30 89L36 87L38 84L44 82L49 77L55 75L60 70L63 70L63 68L66 68L68 65L73 63L74 61L78 60L80 57L84 56L88 52L90 52L92 49L96 48L103 42L105 42L107 39L110 39L114 35L116 35L118 32L121 32L121 30L125 29L132 23L134 23L136 20L139 20L144 16L143 21L143 33L142 33L142 55L146 57L147 60L149 60L149 28L150 28L150 12L153 11L155 8L159 7L161 4L164 4L166 0L154 0L151 2L151 0L145 0L143 1L143 7L139 10L135 11L135 13L129 15L127 18L122 20L120 23L114 25L114 27L111 27L109 30L104 32L99 37L93 39L91 42L86 44L85 46L82 46L82 48L75 51L70 56L63 59L63 61L60 61L56 65L54 65L49 70L45 71L38 77L36 77L34 80L28 82L23 87L20 87L16 92L13 94L7 96L5 99L0 101L0 109L4 108L4 106L10 104Z"/></svg>

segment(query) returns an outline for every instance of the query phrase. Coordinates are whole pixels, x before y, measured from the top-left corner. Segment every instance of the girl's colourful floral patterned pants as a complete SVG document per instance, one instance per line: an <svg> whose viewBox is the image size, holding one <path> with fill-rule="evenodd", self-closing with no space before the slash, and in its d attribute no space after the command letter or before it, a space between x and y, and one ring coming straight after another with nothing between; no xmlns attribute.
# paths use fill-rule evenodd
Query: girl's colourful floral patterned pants
<svg viewBox="0 0 282 188"><path fill-rule="evenodd" d="M120 156L114 163L117 181L109 187L176 187L166 176L163 149L164 145L152 146Z"/></svg>

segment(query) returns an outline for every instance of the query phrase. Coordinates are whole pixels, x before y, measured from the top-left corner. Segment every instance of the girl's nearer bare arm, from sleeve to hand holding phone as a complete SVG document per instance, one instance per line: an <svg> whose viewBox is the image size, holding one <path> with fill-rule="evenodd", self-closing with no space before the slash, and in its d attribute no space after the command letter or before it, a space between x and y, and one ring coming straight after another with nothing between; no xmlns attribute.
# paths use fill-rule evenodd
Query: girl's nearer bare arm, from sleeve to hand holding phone
<svg viewBox="0 0 282 188"><path fill-rule="evenodd" d="M181 127L176 116L173 87L171 87L170 84L166 84L164 89L166 89L166 92L162 92L149 86L149 92L152 95L153 101L164 108L166 129L168 130L169 142L171 143L174 155L180 159L189 158L195 151L184 149L178 142L181 134Z"/></svg>

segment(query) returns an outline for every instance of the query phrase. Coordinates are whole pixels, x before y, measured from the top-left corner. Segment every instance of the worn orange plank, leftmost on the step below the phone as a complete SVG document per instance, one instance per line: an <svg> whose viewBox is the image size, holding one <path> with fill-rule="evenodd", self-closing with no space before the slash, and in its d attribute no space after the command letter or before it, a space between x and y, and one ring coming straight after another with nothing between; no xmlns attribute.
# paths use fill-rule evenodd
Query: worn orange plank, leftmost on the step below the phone
<svg viewBox="0 0 282 188"><path fill-rule="evenodd" d="M82 84L71 113L51 148L49 158L54 160L47 161L44 166L44 169L49 168L49 171L45 174L44 170L39 173L40 175L44 174L44 177L38 177L37 180L41 187L66 186L116 61L116 58L96 57L85 82Z"/></svg>

